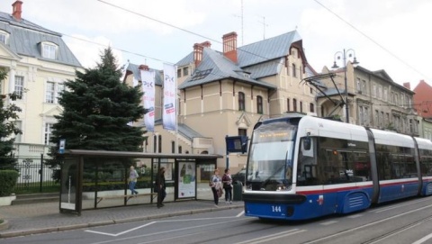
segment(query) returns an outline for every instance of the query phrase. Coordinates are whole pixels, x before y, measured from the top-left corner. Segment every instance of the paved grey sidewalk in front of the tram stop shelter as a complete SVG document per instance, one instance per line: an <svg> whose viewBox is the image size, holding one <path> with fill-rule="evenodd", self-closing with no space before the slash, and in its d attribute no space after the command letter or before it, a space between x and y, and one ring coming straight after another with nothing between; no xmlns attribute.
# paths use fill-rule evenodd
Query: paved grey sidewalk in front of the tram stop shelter
<svg viewBox="0 0 432 244"><path fill-rule="evenodd" d="M212 201L190 200L168 202L160 209L156 204L139 204L85 210L81 212L81 216L78 216L72 213L60 213L58 205L59 203L31 203L1 206L0 219L7 221L9 228L0 229L0 239L244 207L242 201L232 204L221 201L219 208L216 208Z"/></svg>

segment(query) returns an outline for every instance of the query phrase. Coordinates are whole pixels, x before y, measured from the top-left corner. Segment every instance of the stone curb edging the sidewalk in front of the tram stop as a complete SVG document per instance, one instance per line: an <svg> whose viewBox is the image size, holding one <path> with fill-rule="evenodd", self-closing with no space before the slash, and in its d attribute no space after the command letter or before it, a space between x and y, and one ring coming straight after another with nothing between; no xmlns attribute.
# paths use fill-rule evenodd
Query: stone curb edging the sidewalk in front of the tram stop
<svg viewBox="0 0 432 244"><path fill-rule="evenodd" d="M127 218L127 219L119 219L119 220L112 220L112 221L95 221L95 222L89 222L89 223L78 223L78 224L72 224L72 225L66 225L66 226L47 227L47 228L32 229L32 230L14 230L11 232L0 233L0 239L20 237L20 236L28 236L28 235L39 234L39 233L57 232L57 231L64 231L64 230L78 230L78 229L85 229L85 228L90 228L90 227L111 225L111 224L116 224L116 223L157 220L157 219L162 219L162 218L167 218L167 217L174 217L174 216L181 216L181 215L192 215L195 213L202 213L202 212L217 212L217 211L222 211L222 210L237 209L237 208L243 208L243 207L244 207L243 204L229 205L229 206L220 206L219 208L212 207L212 208L203 208L203 209L188 210L188 211L182 211L182 212L161 213L161 214L156 214L156 215L148 215L148 216L143 216L143 217L132 217L132 218ZM2 226L5 226L4 229L2 229ZM0 230L7 230L7 228L9 228L8 221L4 220L4 222L0 224Z"/></svg>

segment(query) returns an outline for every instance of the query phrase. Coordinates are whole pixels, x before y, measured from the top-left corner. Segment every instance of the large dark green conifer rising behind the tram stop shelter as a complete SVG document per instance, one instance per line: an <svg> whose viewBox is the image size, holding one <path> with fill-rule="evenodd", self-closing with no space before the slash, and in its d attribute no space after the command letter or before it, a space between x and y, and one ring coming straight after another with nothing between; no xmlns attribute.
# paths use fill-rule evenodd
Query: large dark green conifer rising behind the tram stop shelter
<svg viewBox="0 0 432 244"><path fill-rule="evenodd" d="M128 122L147 113L140 105L143 93L120 78L121 69L108 48L95 68L76 71L76 80L67 80L67 89L58 100L64 110L55 116L49 140L55 145L49 149L49 165L61 163L59 140L66 140L66 149L142 151L146 131Z"/></svg>

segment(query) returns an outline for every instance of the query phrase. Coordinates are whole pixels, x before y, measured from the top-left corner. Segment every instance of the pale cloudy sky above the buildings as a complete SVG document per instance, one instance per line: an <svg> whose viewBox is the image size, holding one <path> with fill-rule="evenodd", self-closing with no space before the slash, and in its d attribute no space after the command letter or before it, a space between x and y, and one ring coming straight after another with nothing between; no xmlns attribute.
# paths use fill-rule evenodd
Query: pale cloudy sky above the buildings
<svg viewBox="0 0 432 244"><path fill-rule="evenodd" d="M12 14L14 0L0 2ZM297 30L311 67L330 68L338 52L385 70L400 85L432 86L429 0L23 0L22 17L54 32L85 68L111 46L128 60L162 69L211 41L238 33L238 47ZM338 66L343 67L341 60Z"/></svg>

